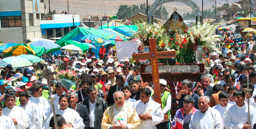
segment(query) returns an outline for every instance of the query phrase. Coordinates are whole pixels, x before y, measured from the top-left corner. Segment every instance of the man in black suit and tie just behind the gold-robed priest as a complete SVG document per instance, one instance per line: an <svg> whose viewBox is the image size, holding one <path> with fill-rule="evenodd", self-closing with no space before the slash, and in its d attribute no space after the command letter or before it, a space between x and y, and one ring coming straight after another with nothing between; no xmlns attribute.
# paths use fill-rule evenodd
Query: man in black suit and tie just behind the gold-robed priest
<svg viewBox="0 0 256 129"><path fill-rule="evenodd" d="M106 102L108 104L108 106L112 106L115 101L114 101L114 98L113 98L113 94L116 92L116 91L121 91L121 88L123 87L124 85L124 79L121 75L118 75L116 77L116 84L114 86L111 86L109 88L109 91L108 91L108 96L107 96L107 99L106 99Z"/></svg>

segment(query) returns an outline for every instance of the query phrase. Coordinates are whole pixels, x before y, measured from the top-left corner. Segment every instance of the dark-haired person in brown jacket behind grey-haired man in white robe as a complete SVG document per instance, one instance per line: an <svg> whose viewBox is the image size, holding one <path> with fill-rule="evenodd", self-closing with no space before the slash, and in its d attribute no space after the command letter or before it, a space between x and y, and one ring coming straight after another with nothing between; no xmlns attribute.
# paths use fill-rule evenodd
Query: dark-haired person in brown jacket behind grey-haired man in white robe
<svg viewBox="0 0 256 129"><path fill-rule="evenodd" d="M224 90L223 86L220 84L215 84L212 88L214 94L211 95L210 107L212 108L215 105L219 104L218 98L219 93Z"/></svg>

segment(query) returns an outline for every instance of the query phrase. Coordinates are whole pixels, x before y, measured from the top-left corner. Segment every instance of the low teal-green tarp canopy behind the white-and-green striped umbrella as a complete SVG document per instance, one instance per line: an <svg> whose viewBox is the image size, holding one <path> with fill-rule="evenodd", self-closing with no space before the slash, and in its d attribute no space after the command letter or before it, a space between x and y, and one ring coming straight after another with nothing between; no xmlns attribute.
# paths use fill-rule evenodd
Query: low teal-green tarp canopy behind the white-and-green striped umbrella
<svg viewBox="0 0 256 129"><path fill-rule="evenodd" d="M76 41L74 41L74 40L67 40L67 41L62 42L62 43L59 44L59 45L60 45L61 47L64 47L64 46L69 45L69 44L73 44L73 45L75 45L76 47L79 47L80 49L83 50L83 53L87 52L88 49L89 49L89 46L88 46L88 45L85 45L85 44L76 42ZM60 48L49 49L49 50L46 51L46 53L52 53L52 52L55 52L55 51L58 51L58 50L60 50Z"/></svg>

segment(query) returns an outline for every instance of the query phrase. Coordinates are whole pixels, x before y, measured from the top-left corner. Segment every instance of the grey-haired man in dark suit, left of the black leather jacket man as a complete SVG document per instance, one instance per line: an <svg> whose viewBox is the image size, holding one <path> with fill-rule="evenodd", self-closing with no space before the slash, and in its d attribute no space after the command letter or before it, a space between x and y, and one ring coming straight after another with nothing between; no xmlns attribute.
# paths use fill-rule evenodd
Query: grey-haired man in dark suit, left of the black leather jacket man
<svg viewBox="0 0 256 129"><path fill-rule="evenodd" d="M80 117L83 119L83 123L85 125L84 129L89 129L89 123L90 123L90 117L88 113L88 109L85 105L82 104L77 104L76 102L78 101L78 94L75 92L70 92L69 93L69 108L74 109Z"/></svg>

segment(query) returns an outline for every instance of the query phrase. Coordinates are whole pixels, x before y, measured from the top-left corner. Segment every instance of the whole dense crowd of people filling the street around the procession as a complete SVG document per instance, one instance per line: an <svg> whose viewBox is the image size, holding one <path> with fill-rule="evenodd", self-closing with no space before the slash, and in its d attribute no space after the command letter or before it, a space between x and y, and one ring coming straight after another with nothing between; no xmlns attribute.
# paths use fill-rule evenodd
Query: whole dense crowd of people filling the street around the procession
<svg viewBox="0 0 256 129"><path fill-rule="evenodd" d="M255 40L238 42L230 33L224 37L220 51L203 47L205 73L197 82L184 78L175 98L170 82L159 80L161 96L157 96L152 82L144 82L141 77L140 61L128 58L117 61L116 51L112 47L106 51L104 45L99 59L89 49L85 55L44 55L44 63L26 68L6 65L0 74L0 128L256 128ZM58 74L44 78L43 64ZM74 84L62 83L62 74L72 76L70 81ZM252 89L249 96L244 89L247 83ZM55 97L54 109L48 100L49 88ZM155 102L158 97L162 104ZM172 115L174 103L178 103L178 110Z"/></svg>

